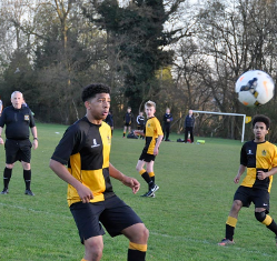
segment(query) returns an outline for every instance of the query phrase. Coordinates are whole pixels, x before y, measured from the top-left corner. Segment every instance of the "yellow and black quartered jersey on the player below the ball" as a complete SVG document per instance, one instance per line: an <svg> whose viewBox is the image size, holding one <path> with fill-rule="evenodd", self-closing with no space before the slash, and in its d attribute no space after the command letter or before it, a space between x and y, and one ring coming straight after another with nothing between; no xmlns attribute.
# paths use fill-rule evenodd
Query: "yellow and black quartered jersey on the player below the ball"
<svg viewBox="0 0 277 261"><path fill-rule="evenodd" d="M246 142L240 151L240 164L247 167L247 173L241 185L270 192L273 175L265 180L259 180L257 179L257 171L267 172L277 167L277 148L275 144L268 141L261 143Z"/></svg>

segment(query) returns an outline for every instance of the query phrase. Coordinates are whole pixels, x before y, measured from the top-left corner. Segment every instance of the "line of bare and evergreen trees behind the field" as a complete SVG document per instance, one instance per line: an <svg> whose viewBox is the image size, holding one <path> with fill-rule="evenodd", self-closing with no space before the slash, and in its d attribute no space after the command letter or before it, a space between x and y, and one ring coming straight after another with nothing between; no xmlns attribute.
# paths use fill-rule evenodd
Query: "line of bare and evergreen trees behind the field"
<svg viewBox="0 0 277 261"><path fill-rule="evenodd" d="M69 124L83 114L81 88L111 87L116 127L147 100L181 132L189 109L271 118L276 98L238 102L235 82L258 69L276 81L277 2L271 0L2 0L0 96L24 94L36 118ZM240 139L241 119L199 114L196 133ZM250 137L250 128L246 128ZM246 135L246 137L247 137Z"/></svg>

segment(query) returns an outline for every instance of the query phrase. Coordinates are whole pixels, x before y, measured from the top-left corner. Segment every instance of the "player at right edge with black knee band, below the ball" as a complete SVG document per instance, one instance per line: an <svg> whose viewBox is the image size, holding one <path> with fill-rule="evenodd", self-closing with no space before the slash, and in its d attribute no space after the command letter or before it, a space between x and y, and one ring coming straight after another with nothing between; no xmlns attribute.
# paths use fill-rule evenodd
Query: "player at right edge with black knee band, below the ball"
<svg viewBox="0 0 277 261"><path fill-rule="evenodd" d="M256 116L253 120L255 139L246 142L240 152L240 165L234 179L239 182L247 170L246 177L234 195L234 202L226 222L226 235L219 245L234 244L234 233L238 220L238 212L243 207L255 204L256 219L271 230L277 240L277 224L269 213L269 192L273 175L277 173L276 145L266 141L270 120L265 116Z"/></svg>

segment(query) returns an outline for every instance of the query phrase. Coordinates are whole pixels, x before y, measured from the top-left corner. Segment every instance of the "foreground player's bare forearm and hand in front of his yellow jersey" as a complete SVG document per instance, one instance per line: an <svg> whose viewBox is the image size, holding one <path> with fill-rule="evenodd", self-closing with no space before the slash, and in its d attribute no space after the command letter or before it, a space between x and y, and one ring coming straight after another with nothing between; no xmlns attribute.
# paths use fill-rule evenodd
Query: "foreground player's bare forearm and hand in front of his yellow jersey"
<svg viewBox="0 0 277 261"><path fill-rule="evenodd" d="M49 167L60 179L76 188L82 203L89 203L93 199L92 191L71 175L66 165L51 159Z"/></svg>

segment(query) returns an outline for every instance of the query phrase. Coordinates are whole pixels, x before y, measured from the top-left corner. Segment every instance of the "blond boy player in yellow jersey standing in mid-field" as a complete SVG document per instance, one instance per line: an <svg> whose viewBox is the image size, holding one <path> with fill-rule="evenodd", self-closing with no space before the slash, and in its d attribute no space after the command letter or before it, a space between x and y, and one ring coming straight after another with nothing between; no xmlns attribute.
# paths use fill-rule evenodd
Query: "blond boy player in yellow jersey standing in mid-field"
<svg viewBox="0 0 277 261"><path fill-rule="evenodd" d="M164 134L160 122L155 117L156 103L154 101L146 102L145 110L147 114L145 131L135 131L135 134L145 134L146 137L146 144L141 155L139 157L136 170L148 183L148 192L142 194L142 197L155 197L155 192L159 189L159 187L155 183L154 162L155 157L159 152L159 145L164 138ZM145 164L146 170L144 169Z"/></svg>

